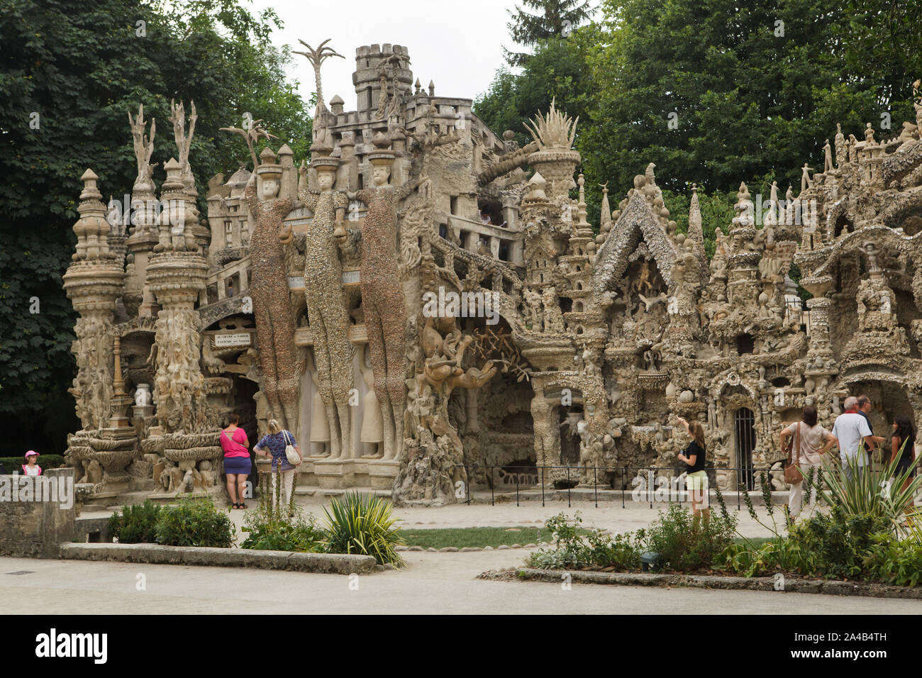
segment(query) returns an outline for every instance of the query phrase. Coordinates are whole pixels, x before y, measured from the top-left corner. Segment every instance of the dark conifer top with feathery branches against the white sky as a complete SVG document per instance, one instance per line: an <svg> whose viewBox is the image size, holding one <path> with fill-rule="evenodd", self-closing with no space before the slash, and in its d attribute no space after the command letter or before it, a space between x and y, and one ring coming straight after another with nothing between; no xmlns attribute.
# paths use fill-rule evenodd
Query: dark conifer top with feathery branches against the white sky
<svg viewBox="0 0 922 678"><path fill-rule="evenodd" d="M523 0L524 6L508 10L513 19L507 25L513 40L534 47L550 38L566 38L590 18L588 0ZM537 14L526 11L526 7ZM530 54L515 53L503 48L509 65L525 65Z"/></svg>

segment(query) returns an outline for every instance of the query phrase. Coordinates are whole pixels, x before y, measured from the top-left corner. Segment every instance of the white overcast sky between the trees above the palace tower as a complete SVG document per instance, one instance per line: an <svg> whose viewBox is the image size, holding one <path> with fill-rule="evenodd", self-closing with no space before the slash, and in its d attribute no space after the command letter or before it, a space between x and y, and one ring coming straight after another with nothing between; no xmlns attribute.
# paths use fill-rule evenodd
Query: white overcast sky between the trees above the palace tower
<svg viewBox="0 0 922 678"><path fill-rule="evenodd" d="M496 69L503 65L502 46L513 47L506 23L506 9L515 0L254 0L257 11L273 7L285 26L273 33L274 44L303 49L328 43L345 59L327 59L323 65L324 98L335 94L356 108L352 71L355 49L367 44L405 45L410 68L423 88L430 79L435 93L445 97L474 99L490 87ZM294 54L292 77L301 83L305 100L313 93L313 68Z"/></svg>

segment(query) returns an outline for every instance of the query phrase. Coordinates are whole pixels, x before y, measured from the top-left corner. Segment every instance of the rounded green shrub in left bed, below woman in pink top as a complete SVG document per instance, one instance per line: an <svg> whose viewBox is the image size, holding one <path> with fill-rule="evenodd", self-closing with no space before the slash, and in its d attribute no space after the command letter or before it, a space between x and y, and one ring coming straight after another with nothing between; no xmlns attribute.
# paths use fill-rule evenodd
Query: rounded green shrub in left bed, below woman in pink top
<svg viewBox="0 0 922 678"><path fill-rule="evenodd" d="M188 497L177 506L164 506L157 518L157 542L166 546L231 548L235 538L228 512L208 497Z"/></svg>

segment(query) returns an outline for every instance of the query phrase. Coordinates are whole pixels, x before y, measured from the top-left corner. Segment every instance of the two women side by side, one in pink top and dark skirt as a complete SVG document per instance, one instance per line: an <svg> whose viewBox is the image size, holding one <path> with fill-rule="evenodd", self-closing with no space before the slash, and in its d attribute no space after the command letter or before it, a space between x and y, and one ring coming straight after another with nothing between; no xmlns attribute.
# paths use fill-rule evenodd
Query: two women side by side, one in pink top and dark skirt
<svg viewBox="0 0 922 678"><path fill-rule="evenodd" d="M231 413L228 416L228 426L221 431L221 448L224 450L224 473L227 475L228 494L231 497L233 508L247 508L246 487L247 479L255 474L252 472L254 458L250 454L250 441L246 432L240 427L240 415ZM286 448L292 446L301 456L301 447L290 431L283 429L277 420L270 419L267 432L259 442L253 446L257 455L272 459L272 493L276 494L276 482L281 482L280 495L282 506L290 502L291 493L294 491L294 474L297 467L289 460Z"/></svg>

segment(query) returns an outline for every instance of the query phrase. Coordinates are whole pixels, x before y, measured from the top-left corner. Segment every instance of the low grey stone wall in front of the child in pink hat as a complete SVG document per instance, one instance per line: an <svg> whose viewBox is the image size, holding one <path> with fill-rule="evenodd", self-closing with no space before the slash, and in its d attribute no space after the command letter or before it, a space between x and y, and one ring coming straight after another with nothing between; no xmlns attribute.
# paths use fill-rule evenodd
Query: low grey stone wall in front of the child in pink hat
<svg viewBox="0 0 922 678"><path fill-rule="evenodd" d="M36 478L46 479L39 481L46 487L50 480L58 489L69 488L69 497L63 494L48 501L44 496L36 501ZM23 492L26 483L30 483L31 495ZM76 517L73 469L49 469L28 479L21 474L0 476L0 555L57 558L60 544L74 538Z"/></svg>

